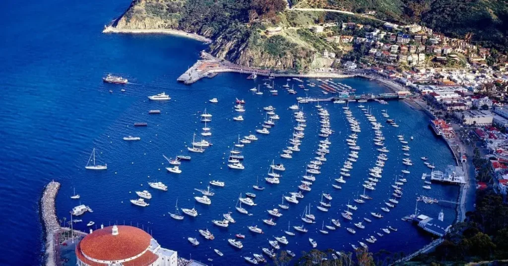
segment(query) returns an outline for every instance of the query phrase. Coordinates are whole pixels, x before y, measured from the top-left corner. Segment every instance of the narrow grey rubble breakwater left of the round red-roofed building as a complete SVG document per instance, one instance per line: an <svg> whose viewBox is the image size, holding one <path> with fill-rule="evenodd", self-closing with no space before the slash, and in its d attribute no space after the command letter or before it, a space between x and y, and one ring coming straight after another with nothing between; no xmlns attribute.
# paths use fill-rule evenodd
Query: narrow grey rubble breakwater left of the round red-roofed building
<svg viewBox="0 0 508 266"><path fill-rule="evenodd" d="M41 197L41 218L46 237L46 262L47 266L55 265L55 243L54 231L60 229L60 224L56 217L55 198L60 188L60 183L51 181L44 188Z"/></svg>

